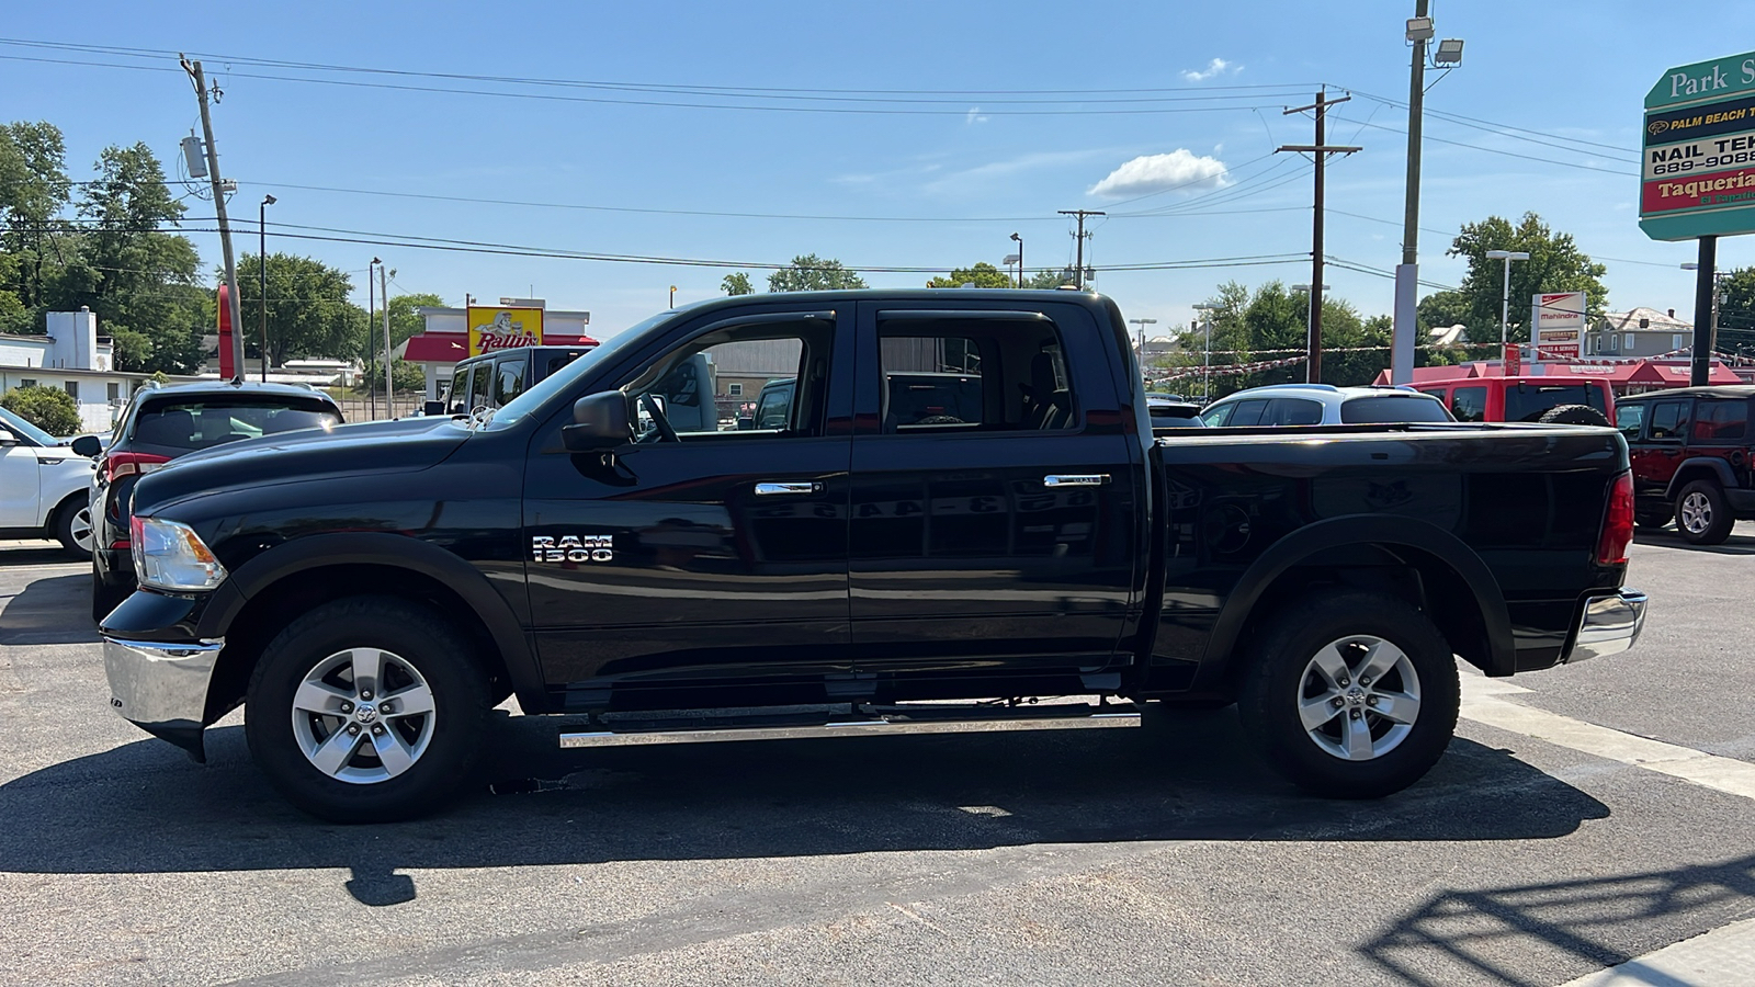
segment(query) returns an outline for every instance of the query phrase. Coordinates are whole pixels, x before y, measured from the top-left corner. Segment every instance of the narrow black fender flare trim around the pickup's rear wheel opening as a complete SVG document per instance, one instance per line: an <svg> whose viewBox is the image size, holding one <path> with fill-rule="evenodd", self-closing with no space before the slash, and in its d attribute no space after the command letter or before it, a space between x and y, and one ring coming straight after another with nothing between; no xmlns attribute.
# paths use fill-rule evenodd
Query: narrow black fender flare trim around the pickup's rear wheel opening
<svg viewBox="0 0 1755 987"><path fill-rule="evenodd" d="M1504 592L1486 562L1455 534L1418 518L1395 515L1346 515L1306 525L1267 548L1237 580L1236 590L1220 609L1200 662L1202 678L1223 674L1255 606L1274 580L1320 551L1350 544L1383 544L1420 550L1450 566L1469 587L1481 623L1486 629L1486 674L1508 676L1516 671L1516 645Z"/></svg>

